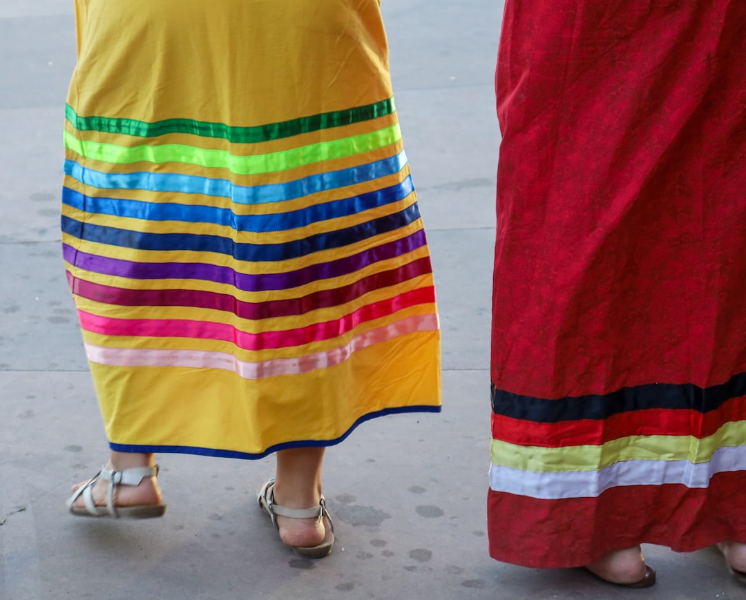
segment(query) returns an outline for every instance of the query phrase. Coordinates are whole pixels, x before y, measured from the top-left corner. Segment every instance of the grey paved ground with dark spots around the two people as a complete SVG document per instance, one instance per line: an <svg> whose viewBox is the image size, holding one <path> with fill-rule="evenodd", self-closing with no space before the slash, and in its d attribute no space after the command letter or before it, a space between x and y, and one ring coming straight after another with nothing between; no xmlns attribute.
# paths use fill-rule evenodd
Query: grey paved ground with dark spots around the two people
<svg viewBox="0 0 746 600"><path fill-rule="evenodd" d="M737 599L711 550L648 546L651 590L487 555L498 0L383 0L398 110L433 252L444 410L366 423L327 453L338 546L295 558L254 506L272 459L163 455L161 520L78 520L107 446L63 278L72 0L0 0L0 598Z"/></svg>

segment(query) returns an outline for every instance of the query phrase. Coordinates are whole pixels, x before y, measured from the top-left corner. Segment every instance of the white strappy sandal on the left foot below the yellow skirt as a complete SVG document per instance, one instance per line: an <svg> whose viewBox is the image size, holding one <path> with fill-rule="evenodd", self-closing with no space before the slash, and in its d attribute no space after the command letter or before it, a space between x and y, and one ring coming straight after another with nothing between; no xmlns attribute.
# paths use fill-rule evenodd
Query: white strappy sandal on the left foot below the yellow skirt
<svg viewBox="0 0 746 600"><path fill-rule="evenodd" d="M114 493L118 485L140 484L140 481L146 477L155 477L158 474L158 466L154 467L134 467L125 470L107 469L106 465L101 467L91 479L86 481L81 487L75 490L72 497L67 501L67 508L76 517L113 517L115 519L151 519L152 517L163 517L166 512L165 504L157 505L140 505L140 506L115 506ZM106 494L106 506L98 506L93 500L93 486L96 481L103 479L109 482ZM85 508L75 506L78 498L83 496Z"/></svg>

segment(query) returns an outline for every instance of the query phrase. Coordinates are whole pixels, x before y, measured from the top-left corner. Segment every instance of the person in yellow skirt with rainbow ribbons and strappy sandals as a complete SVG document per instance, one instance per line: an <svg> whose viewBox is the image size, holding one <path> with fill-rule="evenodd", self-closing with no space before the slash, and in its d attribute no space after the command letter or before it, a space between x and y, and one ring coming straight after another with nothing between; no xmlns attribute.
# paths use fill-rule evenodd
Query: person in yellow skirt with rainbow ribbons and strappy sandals
<svg viewBox="0 0 746 600"><path fill-rule="evenodd" d="M325 447L440 405L379 2L76 14L63 255L111 455L70 511L162 515L155 452L276 453L259 505L296 552L326 555Z"/></svg>

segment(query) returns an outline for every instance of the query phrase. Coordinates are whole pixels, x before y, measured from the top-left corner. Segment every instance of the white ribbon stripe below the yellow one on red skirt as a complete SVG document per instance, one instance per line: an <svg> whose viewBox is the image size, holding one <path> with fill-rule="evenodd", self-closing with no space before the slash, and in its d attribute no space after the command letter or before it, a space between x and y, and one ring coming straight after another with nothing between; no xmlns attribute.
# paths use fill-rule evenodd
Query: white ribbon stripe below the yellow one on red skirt
<svg viewBox="0 0 746 600"><path fill-rule="evenodd" d="M536 473L492 464L489 487L496 492L557 500L595 498L621 485L682 484L707 487L715 473L746 470L746 446L728 446L713 452L706 463L690 461L623 461L598 471Z"/></svg>

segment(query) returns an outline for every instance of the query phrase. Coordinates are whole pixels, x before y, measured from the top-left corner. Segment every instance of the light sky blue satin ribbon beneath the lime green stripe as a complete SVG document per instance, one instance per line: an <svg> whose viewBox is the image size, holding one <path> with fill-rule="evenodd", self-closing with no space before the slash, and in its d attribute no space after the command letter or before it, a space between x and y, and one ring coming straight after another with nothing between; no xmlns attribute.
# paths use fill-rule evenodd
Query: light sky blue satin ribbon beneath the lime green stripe
<svg viewBox="0 0 746 600"><path fill-rule="evenodd" d="M239 204L262 204L294 200L328 189L353 186L357 183L386 177L386 175L398 173L406 164L407 155L402 150L395 157L369 162L366 165L266 186L236 186L227 179L210 179L176 173L151 173L150 171L104 173L104 171L85 168L74 160L65 161L65 174L86 186L101 189L146 189L150 192L204 194L231 198L233 202Z"/></svg>

